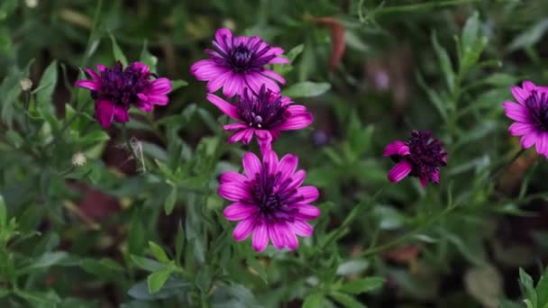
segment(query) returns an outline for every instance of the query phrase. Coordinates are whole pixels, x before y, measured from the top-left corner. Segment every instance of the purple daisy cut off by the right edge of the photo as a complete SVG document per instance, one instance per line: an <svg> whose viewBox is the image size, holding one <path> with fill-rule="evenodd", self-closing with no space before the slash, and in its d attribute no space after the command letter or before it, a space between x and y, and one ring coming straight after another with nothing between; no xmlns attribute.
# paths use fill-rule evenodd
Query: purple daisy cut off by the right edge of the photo
<svg viewBox="0 0 548 308"><path fill-rule="evenodd" d="M522 87L512 86L514 102L504 102L507 117L515 120L508 128L512 136L522 136L525 149L536 144L536 151L548 158L548 87L525 81Z"/></svg>

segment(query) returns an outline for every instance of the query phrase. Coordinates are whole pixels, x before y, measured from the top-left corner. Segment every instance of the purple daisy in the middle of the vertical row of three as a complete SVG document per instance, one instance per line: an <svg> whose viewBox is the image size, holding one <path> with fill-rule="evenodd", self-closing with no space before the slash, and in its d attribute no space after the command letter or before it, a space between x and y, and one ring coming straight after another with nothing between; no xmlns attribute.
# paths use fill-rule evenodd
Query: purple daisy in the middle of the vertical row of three
<svg viewBox="0 0 548 308"><path fill-rule="evenodd" d="M261 152L270 149L279 131L300 130L314 121L306 107L293 102L287 96L260 87L258 95L247 88L243 95L237 95L235 104L230 104L217 95L208 94L207 99L223 113L238 122L224 125L224 130L235 131L229 142L250 143L253 134L257 135Z"/></svg>

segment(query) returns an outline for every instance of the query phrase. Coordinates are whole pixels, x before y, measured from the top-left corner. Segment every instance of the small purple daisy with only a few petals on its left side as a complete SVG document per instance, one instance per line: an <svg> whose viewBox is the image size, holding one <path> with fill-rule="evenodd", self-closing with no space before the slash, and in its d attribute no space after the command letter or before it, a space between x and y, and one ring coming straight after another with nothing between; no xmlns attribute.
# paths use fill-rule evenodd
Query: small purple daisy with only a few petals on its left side
<svg viewBox="0 0 548 308"><path fill-rule="evenodd" d="M440 182L440 168L447 165L447 153L443 143L436 140L431 131L413 131L406 141L388 144L383 156L397 161L388 172L390 182L399 182L404 177L418 177L423 187L428 181Z"/></svg>

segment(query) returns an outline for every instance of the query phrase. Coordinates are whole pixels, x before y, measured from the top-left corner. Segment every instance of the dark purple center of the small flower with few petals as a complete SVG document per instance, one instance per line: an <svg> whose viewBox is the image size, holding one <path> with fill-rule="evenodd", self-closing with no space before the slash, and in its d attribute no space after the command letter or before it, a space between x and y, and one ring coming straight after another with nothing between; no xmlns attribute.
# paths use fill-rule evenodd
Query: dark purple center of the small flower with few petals
<svg viewBox="0 0 548 308"><path fill-rule="evenodd" d="M412 176L431 179L446 165L443 143L434 139L431 131L413 131L406 145L411 152L405 158L413 165Z"/></svg>

